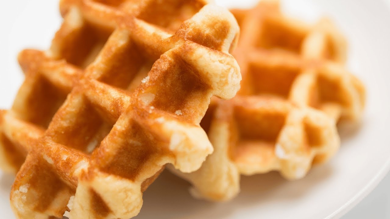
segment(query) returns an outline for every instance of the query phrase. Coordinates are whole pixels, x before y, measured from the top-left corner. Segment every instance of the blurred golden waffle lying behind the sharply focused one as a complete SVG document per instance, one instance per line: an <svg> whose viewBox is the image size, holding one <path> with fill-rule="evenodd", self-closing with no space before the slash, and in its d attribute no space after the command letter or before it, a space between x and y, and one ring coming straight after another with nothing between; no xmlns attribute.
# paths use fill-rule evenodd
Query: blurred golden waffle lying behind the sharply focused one
<svg viewBox="0 0 390 219"><path fill-rule="evenodd" d="M345 70L346 41L328 19L315 25L285 17L277 1L232 10L241 38L234 57L243 81L229 101L217 98L201 122L214 147L202 167L177 173L194 196L229 200L239 175L280 171L304 177L339 148L339 121L357 121L365 90Z"/></svg>

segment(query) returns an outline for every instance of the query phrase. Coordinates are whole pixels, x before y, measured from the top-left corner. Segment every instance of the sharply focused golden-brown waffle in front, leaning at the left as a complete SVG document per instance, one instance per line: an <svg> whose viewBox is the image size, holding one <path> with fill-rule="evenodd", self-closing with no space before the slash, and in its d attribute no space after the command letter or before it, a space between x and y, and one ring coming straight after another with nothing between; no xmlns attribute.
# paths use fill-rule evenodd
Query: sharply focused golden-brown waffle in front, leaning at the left
<svg viewBox="0 0 390 219"><path fill-rule="evenodd" d="M167 163L194 171L213 151L199 123L213 95L239 90L239 28L202 0L60 10L51 48L20 53L26 79L0 111L1 165L19 170L11 207L23 219L128 219Z"/></svg>

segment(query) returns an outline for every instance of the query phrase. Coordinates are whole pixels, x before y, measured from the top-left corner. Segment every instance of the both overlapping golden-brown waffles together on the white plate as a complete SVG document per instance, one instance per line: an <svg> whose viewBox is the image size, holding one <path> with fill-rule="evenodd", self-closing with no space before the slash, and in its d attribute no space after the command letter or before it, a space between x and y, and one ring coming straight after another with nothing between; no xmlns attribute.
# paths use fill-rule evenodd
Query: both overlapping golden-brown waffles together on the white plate
<svg viewBox="0 0 390 219"><path fill-rule="evenodd" d="M207 0L61 0L60 12L50 49L20 53L25 81L0 111L17 218L128 219L166 166L215 201L238 194L241 174L302 178L339 148L336 124L362 114L343 36L277 1L230 13Z"/></svg>

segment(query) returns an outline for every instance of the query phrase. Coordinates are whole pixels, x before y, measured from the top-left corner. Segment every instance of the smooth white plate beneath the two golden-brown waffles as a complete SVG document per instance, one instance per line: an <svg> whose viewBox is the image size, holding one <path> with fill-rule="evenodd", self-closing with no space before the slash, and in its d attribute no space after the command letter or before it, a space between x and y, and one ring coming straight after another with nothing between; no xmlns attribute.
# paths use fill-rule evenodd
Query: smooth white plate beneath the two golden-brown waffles
<svg viewBox="0 0 390 219"><path fill-rule="evenodd" d="M219 0L248 7L256 0ZM228 203L193 200L186 182L163 173L145 192L137 219L147 218L332 218L340 217L367 195L390 167L390 11L371 0L284 1L289 14L314 21L330 16L349 40L349 69L367 86L367 109L360 129L342 129L342 148L331 162L302 180L287 182L277 173L243 177L241 194ZM9 108L23 75L16 63L25 47L46 49L60 25L58 2L0 2L0 108ZM0 173L0 212L13 219L9 187Z"/></svg>

